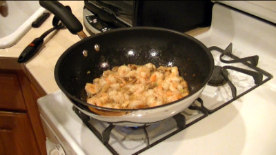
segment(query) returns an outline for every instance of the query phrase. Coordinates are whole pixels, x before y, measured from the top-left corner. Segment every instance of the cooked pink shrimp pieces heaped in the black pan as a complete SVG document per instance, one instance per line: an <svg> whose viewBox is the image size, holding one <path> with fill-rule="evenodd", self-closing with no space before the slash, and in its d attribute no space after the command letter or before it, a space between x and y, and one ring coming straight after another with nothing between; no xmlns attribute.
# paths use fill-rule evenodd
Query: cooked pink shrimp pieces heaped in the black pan
<svg viewBox="0 0 276 155"><path fill-rule="evenodd" d="M177 67L121 65L106 70L86 83L87 103L116 109L139 109L164 105L189 94L188 83Z"/></svg>

